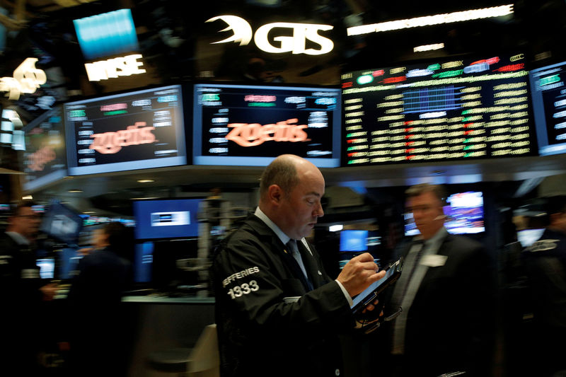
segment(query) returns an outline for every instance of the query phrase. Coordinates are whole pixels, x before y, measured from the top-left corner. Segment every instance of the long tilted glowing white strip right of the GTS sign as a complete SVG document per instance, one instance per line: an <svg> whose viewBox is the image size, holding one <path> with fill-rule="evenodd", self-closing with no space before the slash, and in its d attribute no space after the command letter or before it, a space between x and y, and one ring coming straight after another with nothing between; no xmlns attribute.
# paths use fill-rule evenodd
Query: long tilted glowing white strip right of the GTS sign
<svg viewBox="0 0 566 377"><path fill-rule="evenodd" d="M359 25L347 28L347 35L362 35L379 33L382 31L418 28L420 26L440 25L443 23L455 23L463 21L478 20L481 18L502 17L513 13L513 4L493 6L491 8L472 9L453 13L437 14L405 20L372 23L371 25Z"/></svg>

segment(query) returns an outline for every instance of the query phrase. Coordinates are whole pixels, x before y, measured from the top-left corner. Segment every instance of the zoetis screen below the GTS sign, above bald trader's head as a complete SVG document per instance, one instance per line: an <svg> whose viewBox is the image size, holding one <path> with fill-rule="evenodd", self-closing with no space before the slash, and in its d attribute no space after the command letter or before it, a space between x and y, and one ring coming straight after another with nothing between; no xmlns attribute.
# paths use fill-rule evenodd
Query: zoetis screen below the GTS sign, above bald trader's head
<svg viewBox="0 0 566 377"><path fill-rule="evenodd" d="M267 166L283 153L340 165L340 89L195 84L195 165Z"/></svg>

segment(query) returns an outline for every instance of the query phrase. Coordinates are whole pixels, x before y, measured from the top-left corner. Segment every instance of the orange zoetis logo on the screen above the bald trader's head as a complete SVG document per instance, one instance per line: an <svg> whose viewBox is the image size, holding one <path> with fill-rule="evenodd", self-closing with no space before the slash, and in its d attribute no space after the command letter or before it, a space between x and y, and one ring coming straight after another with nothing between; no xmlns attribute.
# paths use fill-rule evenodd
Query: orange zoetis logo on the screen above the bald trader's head
<svg viewBox="0 0 566 377"><path fill-rule="evenodd" d="M228 127L232 130L226 135L226 139L241 146L258 146L264 141L310 141L304 131L308 126L293 124L296 122L299 120L294 118L264 126L258 123L231 123Z"/></svg>

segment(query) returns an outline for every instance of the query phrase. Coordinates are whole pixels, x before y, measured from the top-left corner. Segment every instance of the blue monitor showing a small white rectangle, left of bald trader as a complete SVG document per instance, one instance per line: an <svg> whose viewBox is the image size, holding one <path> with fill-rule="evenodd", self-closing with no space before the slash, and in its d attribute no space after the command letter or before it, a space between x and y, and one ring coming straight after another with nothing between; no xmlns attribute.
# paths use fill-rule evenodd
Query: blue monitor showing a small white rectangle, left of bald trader
<svg viewBox="0 0 566 377"><path fill-rule="evenodd" d="M197 237L198 212L202 199L161 199L134 201L135 238Z"/></svg>

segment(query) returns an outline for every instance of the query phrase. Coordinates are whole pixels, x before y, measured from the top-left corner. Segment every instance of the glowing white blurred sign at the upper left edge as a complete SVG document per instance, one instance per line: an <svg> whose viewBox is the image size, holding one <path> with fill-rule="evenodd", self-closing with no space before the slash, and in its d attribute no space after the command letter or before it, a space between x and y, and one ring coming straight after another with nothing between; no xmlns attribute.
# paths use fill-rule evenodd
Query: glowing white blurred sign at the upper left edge
<svg viewBox="0 0 566 377"><path fill-rule="evenodd" d="M8 92L8 100L18 100L21 93L34 93L37 88L47 82L45 71L35 68L37 59L28 57L18 68L14 69L13 77L0 79L0 92Z"/></svg>

